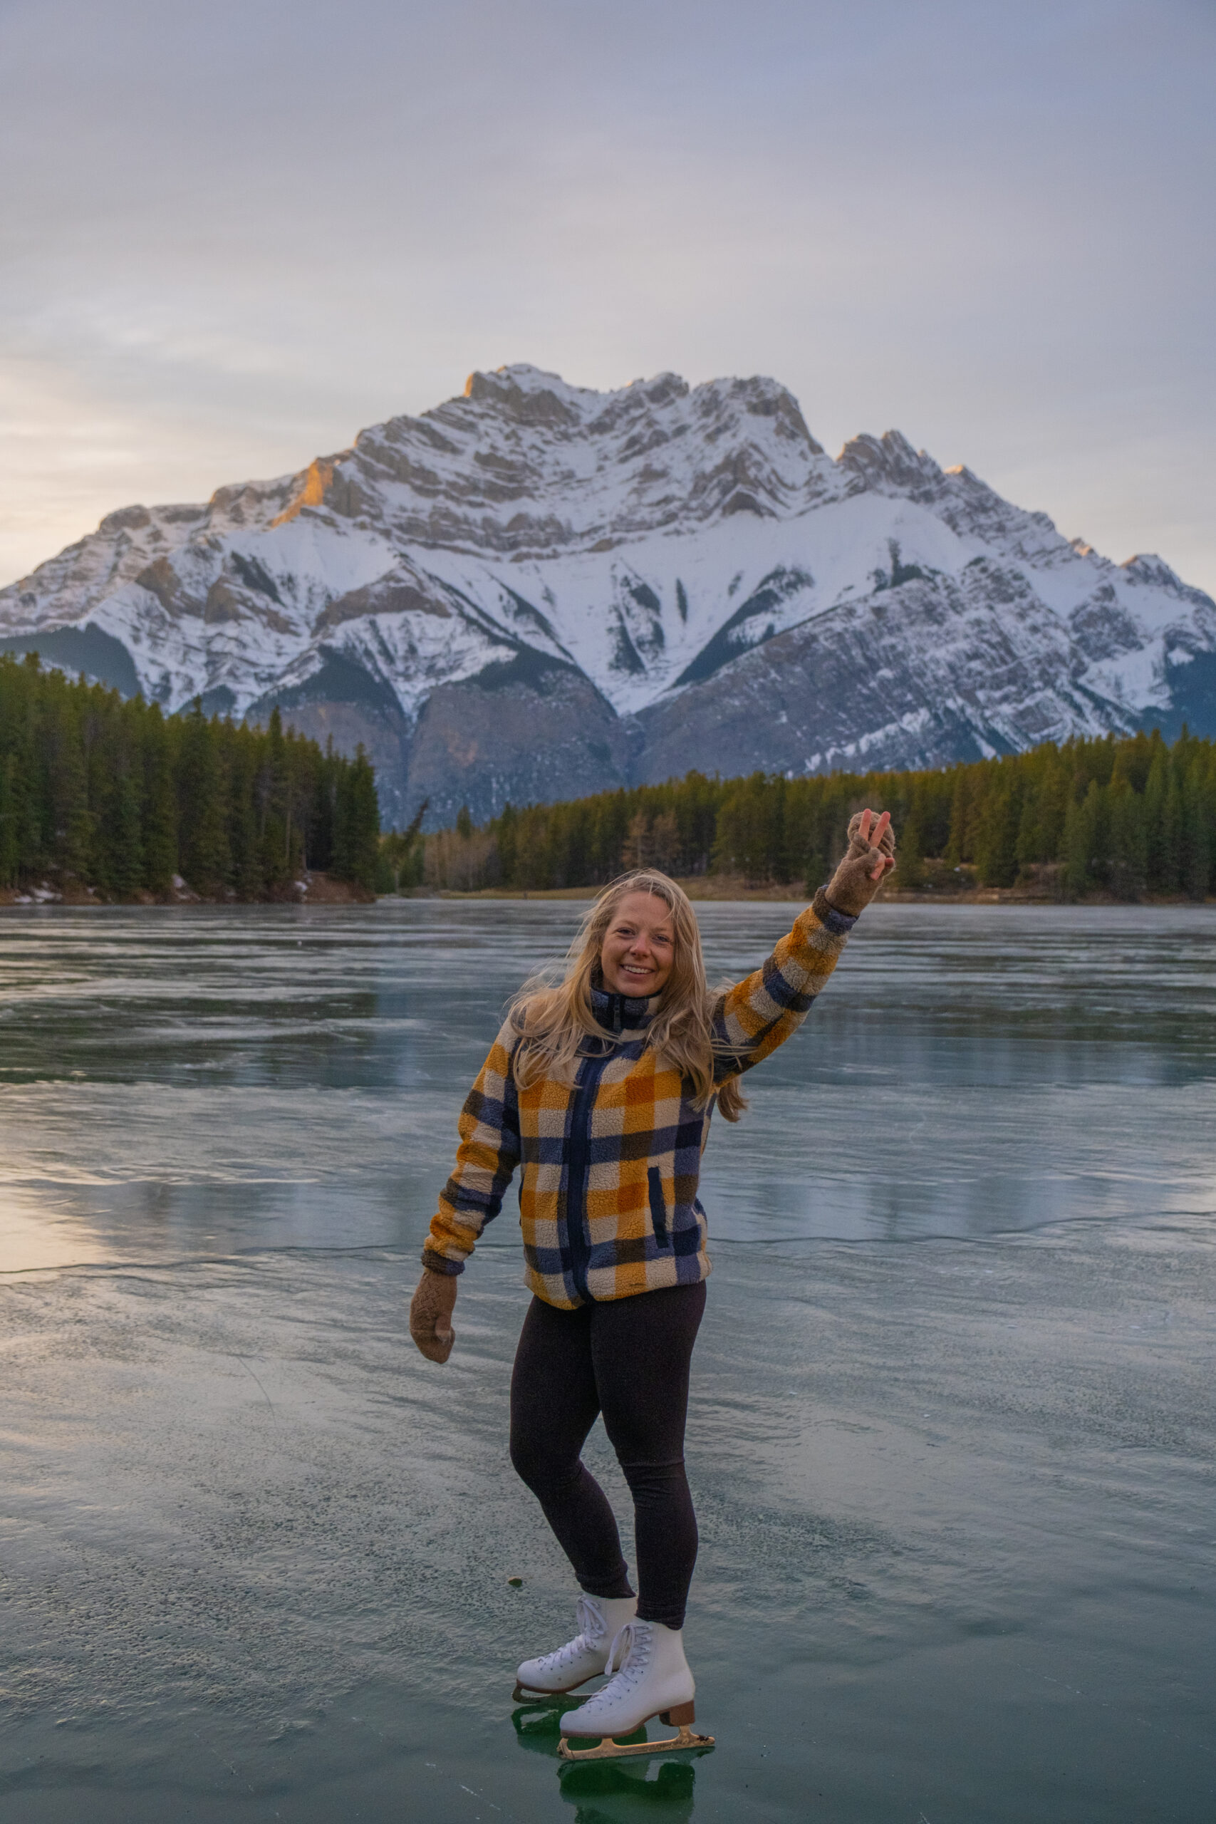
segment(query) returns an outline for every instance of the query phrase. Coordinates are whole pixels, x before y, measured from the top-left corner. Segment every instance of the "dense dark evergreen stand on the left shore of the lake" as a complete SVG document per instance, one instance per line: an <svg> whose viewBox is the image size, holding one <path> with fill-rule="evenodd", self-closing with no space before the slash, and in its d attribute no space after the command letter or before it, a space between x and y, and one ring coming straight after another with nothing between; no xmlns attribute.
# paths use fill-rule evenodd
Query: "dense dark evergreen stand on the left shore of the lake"
<svg viewBox="0 0 1216 1824"><path fill-rule="evenodd" d="M363 750L283 728L166 717L142 697L0 655L0 886L55 877L108 899L275 899L303 868L376 886L379 806Z"/></svg>

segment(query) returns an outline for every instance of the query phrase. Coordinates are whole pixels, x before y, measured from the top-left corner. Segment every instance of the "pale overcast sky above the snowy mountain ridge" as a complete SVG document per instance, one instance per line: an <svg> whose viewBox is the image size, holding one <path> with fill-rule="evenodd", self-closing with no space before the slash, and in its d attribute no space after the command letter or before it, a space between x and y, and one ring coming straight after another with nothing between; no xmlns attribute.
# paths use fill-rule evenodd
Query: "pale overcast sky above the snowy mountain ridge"
<svg viewBox="0 0 1216 1824"><path fill-rule="evenodd" d="M1214 0L0 0L0 582L532 361L1216 591Z"/></svg>

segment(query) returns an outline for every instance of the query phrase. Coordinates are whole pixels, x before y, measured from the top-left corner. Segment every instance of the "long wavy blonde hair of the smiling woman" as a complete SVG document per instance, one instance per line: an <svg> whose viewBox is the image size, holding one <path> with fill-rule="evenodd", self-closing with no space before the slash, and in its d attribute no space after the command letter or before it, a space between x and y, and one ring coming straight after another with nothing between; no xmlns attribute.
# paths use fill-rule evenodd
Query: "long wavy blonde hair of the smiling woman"
<svg viewBox="0 0 1216 1824"><path fill-rule="evenodd" d="M680 1071L693 1085L693 1104L707 1107L715 1094L724 1120L737 1122L747 1107L738 1076L715 1083L715 1056L726 1047L713 1036L711 1010L716 996L706 985L706 959L700 928L689 896L658 868L634 868L618 876L598 894L583 917L565 958L565 974L556 983L532 976L510 1003L510 1023L520 1032L514 1074L520 1089L541 1076L572 1083L578 1060L589 1038L616 1043L594 1016L591 989L600 969L603 938L627 894L653 894L671 914L671 974L658 996L645 1043L664 1063Z"/></svg>

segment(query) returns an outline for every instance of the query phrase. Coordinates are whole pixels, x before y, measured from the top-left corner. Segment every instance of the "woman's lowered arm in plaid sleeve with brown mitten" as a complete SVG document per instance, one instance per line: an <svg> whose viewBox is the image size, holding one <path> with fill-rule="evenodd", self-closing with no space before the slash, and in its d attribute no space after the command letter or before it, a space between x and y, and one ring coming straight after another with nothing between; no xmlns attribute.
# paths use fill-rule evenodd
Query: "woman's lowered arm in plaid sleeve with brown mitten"
<svg viewBox="0 0 1216 1824"><path fill-rule="evenodd" d="M410 1304L410 1335L423 1355L445 1363L452 1353L456 1275L478 1244L487 1222L503 1207L507 1186L520 1164L520 1102L510 1052L514 1032L505 1025L459 1111L459 1145L452 1176L439 1191L423 1248L423 1277Z"/></svg>

